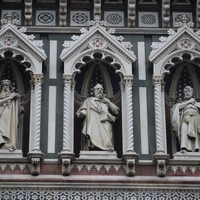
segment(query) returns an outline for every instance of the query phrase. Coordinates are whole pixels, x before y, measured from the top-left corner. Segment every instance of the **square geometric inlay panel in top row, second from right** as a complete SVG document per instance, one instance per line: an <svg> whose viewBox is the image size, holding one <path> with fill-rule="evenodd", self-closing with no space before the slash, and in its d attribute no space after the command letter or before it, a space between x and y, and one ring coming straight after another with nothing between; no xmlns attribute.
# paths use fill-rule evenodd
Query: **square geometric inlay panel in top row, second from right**
<svg viewBox="0 0 200 200"><path fill-rule="evenodd" d="M139 12L139 27L158 27L157 12Z"/></svg>

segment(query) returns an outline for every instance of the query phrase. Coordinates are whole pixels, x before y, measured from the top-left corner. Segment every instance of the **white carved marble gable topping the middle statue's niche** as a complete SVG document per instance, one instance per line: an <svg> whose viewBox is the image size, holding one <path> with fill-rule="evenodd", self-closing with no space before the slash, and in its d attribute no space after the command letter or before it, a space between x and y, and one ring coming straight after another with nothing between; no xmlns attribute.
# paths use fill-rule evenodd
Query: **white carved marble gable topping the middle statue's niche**
<svg viewBox="0 0 200 200"><path fill-rule="evenodd" d="M89 30L82 28L80 36L72 36L74 41L65 41L64 49L60 55L61 60L72 65L75 63L84 63L83 57L93 57L94 52L102 52L103 58L111 56L113 63L119 63L120 66L127 66L125 63L132 64L136 60L136 56L131 51L131 43L123 42L122 36L114 36L114 29L106 31L105 22L100 21L98 16L95 21L91 21L92 25ZM125 74L132 74L132 69L123 69ZM71 69L65 68L65 73L71 73Z"/></svg>

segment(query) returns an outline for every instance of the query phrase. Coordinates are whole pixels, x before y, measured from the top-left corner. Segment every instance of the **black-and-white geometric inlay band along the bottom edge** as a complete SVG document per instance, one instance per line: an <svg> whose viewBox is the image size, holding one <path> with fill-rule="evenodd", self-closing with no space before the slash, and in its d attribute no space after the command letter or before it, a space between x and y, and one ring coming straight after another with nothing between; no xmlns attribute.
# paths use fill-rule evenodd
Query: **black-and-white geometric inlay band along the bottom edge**
<svg viewBox="0 0 200 200"><path fill-rule="evenodd" d="M68 199L181 199L198 200L198 190L137 190L137 189L24 189L24 188L2 188L0 189L0 200L68 200Z"/></svg>

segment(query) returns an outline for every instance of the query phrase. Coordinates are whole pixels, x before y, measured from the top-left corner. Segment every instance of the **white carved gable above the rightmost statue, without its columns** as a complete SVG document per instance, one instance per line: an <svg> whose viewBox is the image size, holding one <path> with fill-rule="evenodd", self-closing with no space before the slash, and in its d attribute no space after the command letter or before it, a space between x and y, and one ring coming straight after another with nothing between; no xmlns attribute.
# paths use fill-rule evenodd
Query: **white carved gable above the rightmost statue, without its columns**
<svg viewBox="0 0 200 200"><path fill-rule="evenodd" d="M191 59L200 56L200 31L194 32L191 28L193 23L188 22L183 16L179 22L177 31L170 29L168 37L160 37L160 42L152 43L152 51L149 56L150 62L154 64L154 75L162 75L168 72L164 69L166 64L174 65L172 59L182 59L184 53L188 53Z"/></svg>

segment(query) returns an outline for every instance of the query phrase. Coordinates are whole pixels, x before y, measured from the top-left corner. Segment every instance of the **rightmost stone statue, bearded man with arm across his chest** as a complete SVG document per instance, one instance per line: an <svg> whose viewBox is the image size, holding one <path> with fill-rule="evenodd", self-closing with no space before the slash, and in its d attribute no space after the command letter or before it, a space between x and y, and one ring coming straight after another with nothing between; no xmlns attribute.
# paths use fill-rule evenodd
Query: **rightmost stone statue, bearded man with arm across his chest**
<svg viewBox="0 0 200 200"><path fill-rule="evenodd" d="M193 98L193 88L183 90L184 101L172 109L172 130L178 137L181 153L198 152L200 148L200 103Z"/></svg>

